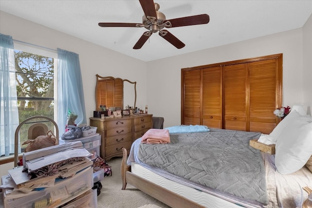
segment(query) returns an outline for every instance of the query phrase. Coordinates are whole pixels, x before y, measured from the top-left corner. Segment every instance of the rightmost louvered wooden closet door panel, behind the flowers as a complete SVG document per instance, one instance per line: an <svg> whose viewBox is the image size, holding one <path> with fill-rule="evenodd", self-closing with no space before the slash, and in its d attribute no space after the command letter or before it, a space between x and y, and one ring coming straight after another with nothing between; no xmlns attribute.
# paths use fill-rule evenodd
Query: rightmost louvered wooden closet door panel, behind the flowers
<svg viewBox="0 0 312 208"><path fill-rule="evenodd" d="M273 111L278 103L277 59L256 61L249 64L250 132L269 134L276 125Z"/></svg>

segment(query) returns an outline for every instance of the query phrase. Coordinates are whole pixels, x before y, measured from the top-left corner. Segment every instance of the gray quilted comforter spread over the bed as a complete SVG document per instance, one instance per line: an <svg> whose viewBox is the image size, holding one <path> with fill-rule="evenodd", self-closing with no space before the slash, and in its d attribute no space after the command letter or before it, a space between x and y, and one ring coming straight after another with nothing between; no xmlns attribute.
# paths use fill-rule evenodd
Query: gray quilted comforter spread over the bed
<svg viewBox="0 0 312 208"><path fill-rule="evenodd" d="M138 158L200 185L268 204L263 160L249 146L259 136L218 129L170 134L170 144L140 144Z"/></svg>

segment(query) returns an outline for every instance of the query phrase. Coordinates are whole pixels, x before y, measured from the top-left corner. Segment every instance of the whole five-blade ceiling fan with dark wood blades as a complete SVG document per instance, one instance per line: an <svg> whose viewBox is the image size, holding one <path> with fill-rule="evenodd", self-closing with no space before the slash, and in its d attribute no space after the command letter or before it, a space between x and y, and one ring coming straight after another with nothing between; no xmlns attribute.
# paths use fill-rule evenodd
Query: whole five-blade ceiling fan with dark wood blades
<svg viewBox="0 0 312 208"><path fill-rule="evenodd" d="M99 22L100 27L145 27L148 31L144 32L137 41L133 49L140 49L148 38L156 32L158 35L170 42L176 48L180 49L185 46L178 38L163 28L182 27L196 24L207 24L209 15L195 15L176 19L166 19L166 16L159 12L159 4L154 0L139 0L144 11L142 23L122 23L122 22Z"/></svg>

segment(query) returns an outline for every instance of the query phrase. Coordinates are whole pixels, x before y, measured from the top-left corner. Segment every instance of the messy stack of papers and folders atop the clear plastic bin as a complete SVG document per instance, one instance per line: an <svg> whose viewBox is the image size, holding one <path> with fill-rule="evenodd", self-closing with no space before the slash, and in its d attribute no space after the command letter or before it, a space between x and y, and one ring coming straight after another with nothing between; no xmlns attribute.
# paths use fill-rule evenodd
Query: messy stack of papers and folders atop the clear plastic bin
<svg viewBox="0 0 312 208"><path fill-rule="evenodd" d="M92 154L82 147L82 143L72 142L43 148L37 151L30 151L23 154L24 166L8 170L5 178L2 178L2 186L6 193L14 191L30 192L37 188L52 187L56 179L74 176L78 171L93 165L88 157ZM58 167L57 173L49 176L42 176L36 170L61 161L85 157L82 161L75 161Z"/></svg>

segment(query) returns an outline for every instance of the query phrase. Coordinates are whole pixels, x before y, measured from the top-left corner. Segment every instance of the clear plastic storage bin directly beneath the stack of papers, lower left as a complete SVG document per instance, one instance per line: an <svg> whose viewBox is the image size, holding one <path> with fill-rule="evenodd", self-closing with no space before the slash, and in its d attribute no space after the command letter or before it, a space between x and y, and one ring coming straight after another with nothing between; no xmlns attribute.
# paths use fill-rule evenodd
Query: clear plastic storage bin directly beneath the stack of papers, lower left
<svg viewBox="0 0 312 208"><path fill-rule="evenodd" d="M3 193L4 208L57 208L92 189L93 185L93 169L89 167L53 187L24 194Z"/></svg>

